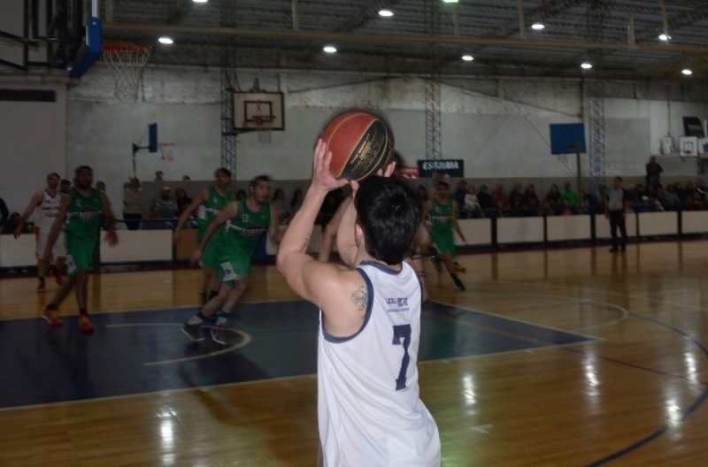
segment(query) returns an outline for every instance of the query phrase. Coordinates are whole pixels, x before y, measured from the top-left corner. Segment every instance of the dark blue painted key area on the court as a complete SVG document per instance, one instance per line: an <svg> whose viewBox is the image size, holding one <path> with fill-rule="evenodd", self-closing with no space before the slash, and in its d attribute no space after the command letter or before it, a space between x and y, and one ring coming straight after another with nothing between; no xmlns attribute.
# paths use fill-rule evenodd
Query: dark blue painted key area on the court
<svg viewBox="0 0 708 467"><path fill-rule="evenodd" d="M0 407L150 393L317 372L318 311L307 302L242 304L233 343L193 342L180 325L196 309L0 321ZM589 341L587 336L426 303L419 360L478 356Z"/></svg>

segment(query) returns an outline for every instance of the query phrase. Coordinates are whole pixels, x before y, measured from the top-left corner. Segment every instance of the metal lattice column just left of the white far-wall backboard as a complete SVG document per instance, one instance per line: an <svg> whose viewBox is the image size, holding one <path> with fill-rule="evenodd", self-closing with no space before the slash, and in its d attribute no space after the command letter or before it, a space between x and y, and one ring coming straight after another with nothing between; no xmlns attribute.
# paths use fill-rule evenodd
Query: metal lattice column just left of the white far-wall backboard
<svg viewBox="0 0 708 467"><path fill-rule="evenodd" d="M221 25L236 26L235 2L221 3ZM234 93L240 86L236 76L235 37L226 38L221 47L221 165L231 171L232 188L236 182L236 130L234 127Z"/></svg>

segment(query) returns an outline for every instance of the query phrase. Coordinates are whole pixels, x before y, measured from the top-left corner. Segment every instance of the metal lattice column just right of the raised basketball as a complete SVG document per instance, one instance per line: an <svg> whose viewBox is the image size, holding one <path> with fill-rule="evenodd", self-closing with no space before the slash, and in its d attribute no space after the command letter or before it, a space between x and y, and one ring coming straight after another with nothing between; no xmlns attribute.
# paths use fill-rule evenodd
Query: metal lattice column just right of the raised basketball
<svg viewBox="0 0 708 467"><path fill-rule="evenodd" d="M425 1L426 34L440 34L441 11L436 0ZM440 121L440 71L437 60L440 57L440 44L427 45L427 66L430 73L426 78L426 158L441 159L443 142Z"/></svg>

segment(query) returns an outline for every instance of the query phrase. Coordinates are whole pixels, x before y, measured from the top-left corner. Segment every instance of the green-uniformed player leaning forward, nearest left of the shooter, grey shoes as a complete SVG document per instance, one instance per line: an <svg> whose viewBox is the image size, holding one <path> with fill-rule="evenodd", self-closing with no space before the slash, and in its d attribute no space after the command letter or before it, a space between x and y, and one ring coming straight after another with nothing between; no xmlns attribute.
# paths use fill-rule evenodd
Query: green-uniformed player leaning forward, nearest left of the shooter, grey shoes
<svg viewBox="0 0 708 467"><path fill-rule="evenodd" d="M181 328L192 341L204 340L204 319L221 310L223 316L219 316L212 328L212 339L220 344L227 343L227 315L248 287L250 256L258 248L260 236L267 232L274 244L281 240L282 233L278 227L280 213L275 205L270 204L270 178L260 175L251 180L249 188L248 198L228 203L212 219L199 247L192 254L192 262L198 262L204 257L204 248L215 233L219 231L222 235L217 249L221 278L219 295L206 302L202 310Z"/></svg>

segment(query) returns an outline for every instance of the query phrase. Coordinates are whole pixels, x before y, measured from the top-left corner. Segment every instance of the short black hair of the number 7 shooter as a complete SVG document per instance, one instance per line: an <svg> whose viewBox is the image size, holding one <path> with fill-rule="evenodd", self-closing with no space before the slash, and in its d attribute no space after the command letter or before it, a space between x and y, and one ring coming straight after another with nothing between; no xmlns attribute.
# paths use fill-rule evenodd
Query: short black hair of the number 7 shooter
<svg viewBox="0 0 708 467"><path fill-rule="evenodd" d="M401 263L418 232L418 196L402 180L373 176L359 182L354 205L369 255Z"/></svg>

